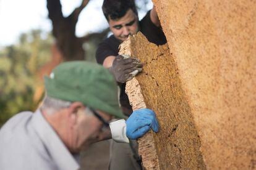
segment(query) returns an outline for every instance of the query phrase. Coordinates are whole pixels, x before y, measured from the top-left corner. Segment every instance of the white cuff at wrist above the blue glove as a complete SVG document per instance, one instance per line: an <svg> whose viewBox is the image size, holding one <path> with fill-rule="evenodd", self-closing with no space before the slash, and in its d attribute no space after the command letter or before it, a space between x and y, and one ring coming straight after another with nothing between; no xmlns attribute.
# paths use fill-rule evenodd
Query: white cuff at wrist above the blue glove
<svg viewBox="0 0 256 170"><path fill-rule="evenodd" d="M129 143L129 139L126 136L126 121L119 119L109 123L112 139L116 142Z"/></svg>

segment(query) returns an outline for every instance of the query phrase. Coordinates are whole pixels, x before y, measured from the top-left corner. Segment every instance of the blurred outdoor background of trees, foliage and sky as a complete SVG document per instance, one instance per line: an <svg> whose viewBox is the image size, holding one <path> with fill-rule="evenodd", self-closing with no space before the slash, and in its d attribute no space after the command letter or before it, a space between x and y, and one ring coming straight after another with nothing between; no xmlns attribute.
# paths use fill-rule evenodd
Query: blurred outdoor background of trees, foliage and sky
<svg viewBox="0 0 256 170"><path fill-rule="evenodd" d="M136 0L139 18L153 7ZM95 62L109 36L103 0L0 0L0 127L20 111L35 111L43 76L61 62Z"/></svg>

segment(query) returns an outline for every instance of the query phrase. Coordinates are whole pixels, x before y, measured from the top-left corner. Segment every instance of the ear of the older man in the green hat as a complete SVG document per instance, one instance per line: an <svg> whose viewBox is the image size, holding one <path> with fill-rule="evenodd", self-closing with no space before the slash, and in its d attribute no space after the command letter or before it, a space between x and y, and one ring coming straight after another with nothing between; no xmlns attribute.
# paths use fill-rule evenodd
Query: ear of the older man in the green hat
<svg viewBox="0 0 256 170"><path fill-rule="evenodd" d="M84 105L81 102L73 102L69 106L67 116L69 117L68 119L70 121L71 126L74 126L77 123L77 118L78 118L77 112L81 108L84 108Z"/></svg>

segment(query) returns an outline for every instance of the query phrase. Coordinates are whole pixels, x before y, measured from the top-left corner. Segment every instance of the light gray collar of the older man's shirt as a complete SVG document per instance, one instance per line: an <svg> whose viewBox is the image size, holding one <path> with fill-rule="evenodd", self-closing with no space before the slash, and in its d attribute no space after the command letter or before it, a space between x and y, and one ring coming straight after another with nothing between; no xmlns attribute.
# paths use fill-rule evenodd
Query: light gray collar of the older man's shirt
<svg viewBox="0 0 256 170"><path fill-rule="evenodd" d="M36 110L32 118L32 126L45 145L51 159L59 169L79 169L79 163L75 160L67 147L64 145L53 127L43 117L41 111Z"/></svg>

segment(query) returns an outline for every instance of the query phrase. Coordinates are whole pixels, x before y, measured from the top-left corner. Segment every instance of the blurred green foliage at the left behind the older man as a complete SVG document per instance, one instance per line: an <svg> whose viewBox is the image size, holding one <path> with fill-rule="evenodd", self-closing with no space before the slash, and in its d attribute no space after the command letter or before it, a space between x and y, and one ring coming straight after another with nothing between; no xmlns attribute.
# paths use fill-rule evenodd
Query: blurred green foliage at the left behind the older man
<svg viewBox="0 0 256 170"><path fill-rule="evenodd" d="M35 110L33 100L38 69L51 56L53 38L40 30L20 35L19 43L0 50L0 127L11 116Z"/></svg>

